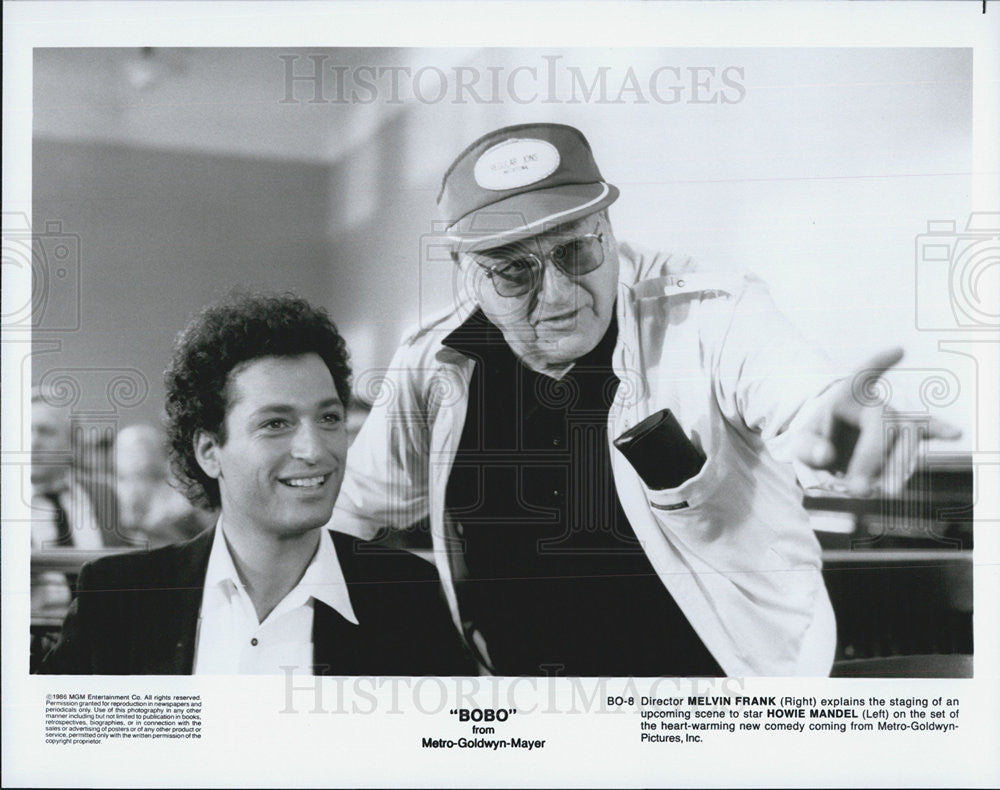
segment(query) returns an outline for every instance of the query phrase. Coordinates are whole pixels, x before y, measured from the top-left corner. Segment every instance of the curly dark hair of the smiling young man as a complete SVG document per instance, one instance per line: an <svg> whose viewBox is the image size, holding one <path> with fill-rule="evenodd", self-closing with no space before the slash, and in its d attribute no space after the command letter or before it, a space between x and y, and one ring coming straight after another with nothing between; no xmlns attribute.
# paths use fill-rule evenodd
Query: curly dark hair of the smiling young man
<svg viewBox="0 0 1000 790"><path fill-rule="evenodd" d="M322 308L294 294L234 293L198 313L174 343L163 374L170 465L195 505L217 508L219 484L202 471L194 439L206 431L226 441L227 384L239 365L260 357L318 354L346 408L351 367L344 339Z"/></svg>

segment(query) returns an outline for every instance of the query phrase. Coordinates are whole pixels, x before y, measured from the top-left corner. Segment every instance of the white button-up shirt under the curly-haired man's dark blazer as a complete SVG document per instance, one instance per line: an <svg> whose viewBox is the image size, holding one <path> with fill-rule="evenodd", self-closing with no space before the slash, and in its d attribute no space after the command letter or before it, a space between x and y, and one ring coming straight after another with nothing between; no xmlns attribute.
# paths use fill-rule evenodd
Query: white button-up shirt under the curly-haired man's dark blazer
<svg viewBox="0 0 1000 790"><path fill-rule="evenodd" d="M315 601L322 601L357 625L337 551L325 529L299 583L263 622L258 622L253 602L236 572L220 518L205 574L194 674L273 675L283 674L283 667L311 674Z"/></svg>

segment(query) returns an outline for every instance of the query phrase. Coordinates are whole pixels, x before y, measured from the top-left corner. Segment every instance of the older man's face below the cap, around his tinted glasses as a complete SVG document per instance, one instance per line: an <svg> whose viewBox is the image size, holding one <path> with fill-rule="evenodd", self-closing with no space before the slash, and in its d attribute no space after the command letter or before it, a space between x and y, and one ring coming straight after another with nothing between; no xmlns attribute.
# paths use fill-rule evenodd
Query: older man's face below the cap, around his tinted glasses
<svg viewBox="0 0 1000 790"><path fill-rule="evenodd" d="M553 248L597 233L602 235L604 263L594 271L573 277L553 265ZM501 296L487 269L526 252L545 261L541 279L522 296ZM618 287L618 245L603 214L591 214L501 250L463 255L460 266L486 317L503 332L514 353L536 370L544 372L579 359L600 342L611 323Z"/></svg>

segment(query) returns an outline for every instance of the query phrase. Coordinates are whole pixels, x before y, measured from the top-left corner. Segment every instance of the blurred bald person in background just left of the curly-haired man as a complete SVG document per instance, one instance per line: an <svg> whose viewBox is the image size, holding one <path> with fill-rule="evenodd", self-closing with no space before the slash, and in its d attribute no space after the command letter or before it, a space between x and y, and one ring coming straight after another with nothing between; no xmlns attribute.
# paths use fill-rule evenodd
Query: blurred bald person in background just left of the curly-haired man
<svg viewBox="0 0 1000 790"><path fill-rule="evenodd" d="M128 540L158 548L193 538L214 516L195 508L171 485L166 437L152 425L129 425L114 446L115 491Z"/></svg>

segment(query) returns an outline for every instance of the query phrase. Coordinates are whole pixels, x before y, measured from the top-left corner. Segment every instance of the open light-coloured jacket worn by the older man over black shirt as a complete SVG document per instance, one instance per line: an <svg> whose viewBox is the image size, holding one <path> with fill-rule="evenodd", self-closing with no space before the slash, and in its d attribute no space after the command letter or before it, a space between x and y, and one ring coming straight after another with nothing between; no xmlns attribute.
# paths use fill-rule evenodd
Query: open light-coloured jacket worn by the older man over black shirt
<svg viewBox="0 0 1000 790"><path fill-rule="evenodd" d="M611 448L635 534L728 675L827 675L836 628L790 447L834 381L827 361L758 279L677 265L627 244L620 257L612 364L621 385L609 441L669 408L707 457L679 488L653 491ZM429 518L459 628L462 527L445 513L445 489L475 363L442 341L474 307L460 305L406 336L378 386L359 382L377 395L331 522L370 539Z"/></svg>

